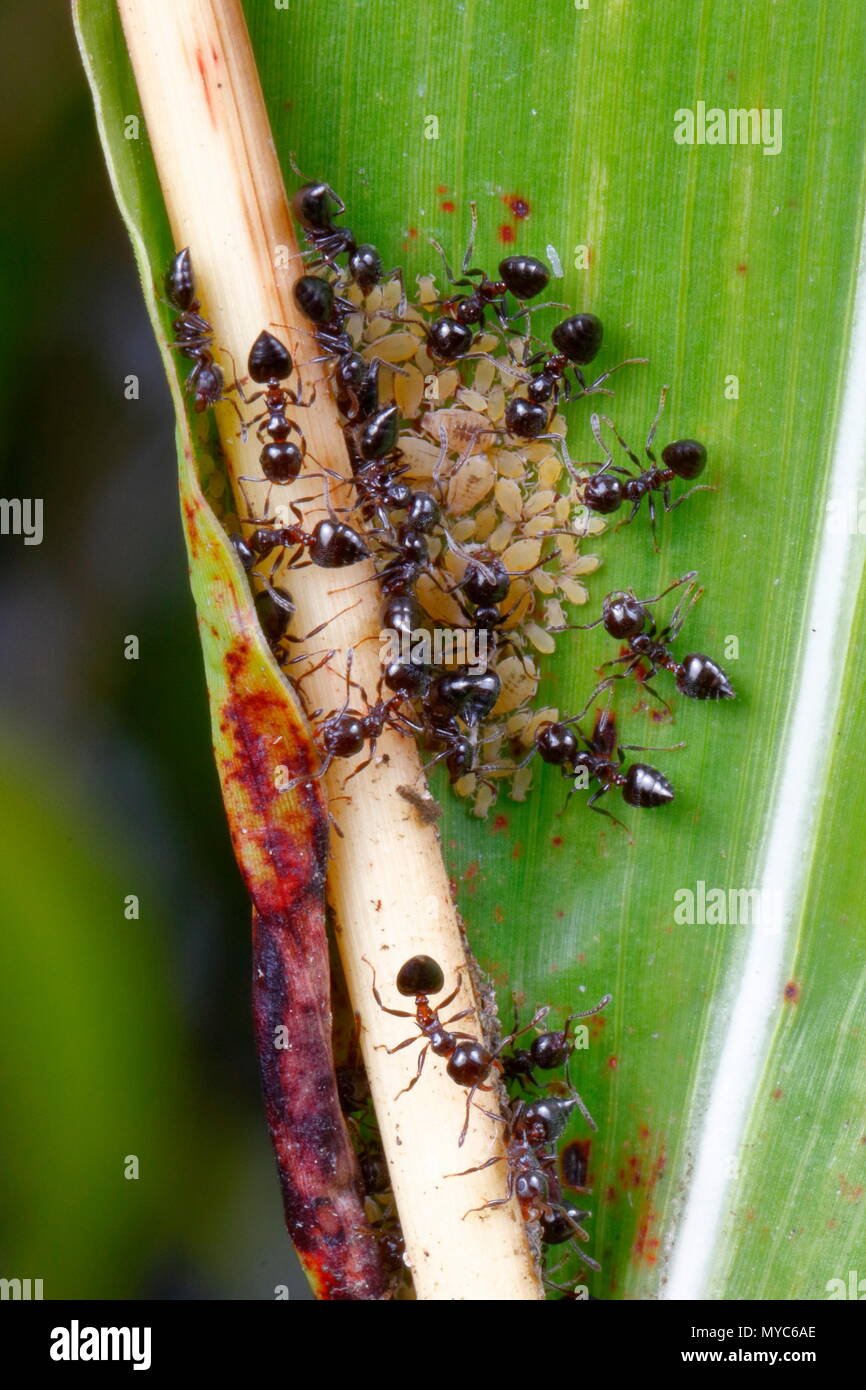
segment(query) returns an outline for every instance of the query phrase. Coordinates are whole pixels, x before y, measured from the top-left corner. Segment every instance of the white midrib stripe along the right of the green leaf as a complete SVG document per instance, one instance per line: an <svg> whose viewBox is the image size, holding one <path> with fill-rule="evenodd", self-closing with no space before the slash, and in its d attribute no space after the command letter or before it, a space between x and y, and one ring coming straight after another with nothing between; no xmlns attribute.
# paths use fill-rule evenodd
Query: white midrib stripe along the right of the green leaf
<svg viewBox="0 0 866 1390"><path fill-rule="evenodd" d="M866 485L866 229L860 245L851 350L828 499L863 496ZM803 505L808 499L803 498ZM692 1119L699 1131L694 1173L673 1241L662 1298L708 1298L710 1264L717 1254L731 1182L728 1158L737 1154L767 1056L769 1031L780 1005L781 972L802 902L812 856L822 776L831 756L840 705L840 652L847 652L853 621L863 537L840 534L835 509L826 507L817 570L805 621L801 660L791 671L795 703L785 734L785 758L765 835L760 902L778 905L769 930L752 929L727 1033L721 1041L706 1105ZM766 894L766 895L765 895ZM771 895L771 897L770 897Z"/></svg>

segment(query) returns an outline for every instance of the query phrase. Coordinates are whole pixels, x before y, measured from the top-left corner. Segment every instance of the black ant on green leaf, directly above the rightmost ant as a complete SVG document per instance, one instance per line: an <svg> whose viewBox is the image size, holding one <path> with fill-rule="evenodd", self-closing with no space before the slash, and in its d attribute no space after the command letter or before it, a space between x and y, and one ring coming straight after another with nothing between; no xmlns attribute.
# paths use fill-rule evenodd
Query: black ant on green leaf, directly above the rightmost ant
<svg viewBox="0 0 866 1390"><path fill-rule="evenodd" d="M656 538L656 507L653 492L662 493L664 512L676 512L687 498L691 498L692 492L716 491L709 484L699 482L696 486L689 488L688 492L678 496L676 502L670 500L670 484L674 478L684 478L691 482L703 473L703 468L706 467L706 449L696 439L674 439L673 443L669 443L664 449L662 449L662 463L664 467L659 467L656 456L652 450L652 443L659 427L659 420L662 418L662 411L664 410L667 391L667 386L662 388L659 409L656 410L655 420L649 427L649 434L646 435L645 453L651 461L651 467L642 467L641 460L634 450L628 448L613 421L603 416L601 418L607 428L613 431L617 442L638 470L638 474L634 477L628 468L616 466L613 463L612 450L602 439L599 416L592 416L592 434L605 453L605 461L602 467L582 484L582 502L589 512L598 512L601 516L609 516L613 512L619 512L623 502L632 503L630 514L624 521L620 521L620 525L628 525L630 521L634 521L644 498L646 498L646 505L649 507L649 524L652 527L653 546L656 550L659 549L659 543ZM613 477L613 474L620 474L626 481L621 482L620 478Z"/></svg>

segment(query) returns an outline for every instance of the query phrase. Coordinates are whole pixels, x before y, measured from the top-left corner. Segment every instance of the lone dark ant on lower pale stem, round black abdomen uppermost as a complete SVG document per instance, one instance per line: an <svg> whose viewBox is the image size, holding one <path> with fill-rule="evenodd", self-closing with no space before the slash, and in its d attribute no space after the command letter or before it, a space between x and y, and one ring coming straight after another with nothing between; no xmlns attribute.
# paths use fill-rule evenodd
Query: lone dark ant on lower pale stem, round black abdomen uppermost
<svg viewBox="0 0 866 1390"><path fill-rule="evenodd" d="M407 1013L405 1009L389 1009L388 1005L384 1004L382 997L375 984L375 969L373 967L370 960L367 960L367 965L373 972L373 997L378 1004L379 1009L382 1009L384 1013L391 1013L395 1019L414 1017L420 1030L418 1034L416 1034L414 1037L405 1038L402 1042L398 1042L396 1047L389 1047L385 1051L388 1054L400 1052L405 1047L410 1047L413 1042L418 1042L421 1038L427 1040L424 1042L424 1047L421 1048L421 1055L418 1056L418 1066L416 1074L413 1076L409 1086L405 1086L402 1091L398 1091L398 1097L405 1095L406 1091L411 1091L411 1088L420 1081L428 1051L435 1052L436 1056L448 1058L446 1072L452 1079L452 1081L455 1081L457 1086L468 1087L468 1094L466 1098L466 1120L460 1131L460 1138L457 1140L459 1145L461 1145L468 1130L470 1105L473 1097L475 1091L491 1090L491 1087L487 1086L485 1081L493 1069L498 1070L502 1069L502 1063L499 1062L499 1052L502 1051L503 1047L507 1047L509 1042L514 1041L516 1034L503 1038L499 1047L493 1052L491 1052L482 1042L478 1041L478 1038L473 1037L471 1033L450 1033L449 1031L450 1024L457 1023L460 1019L468 1017L470 1013L474 1013L474 1009L471 1008L461 1009L459 1013L455 1013L453 1017L450 1019L445 1020L439 1019L439 1012L442 1009L446 1009L448 1005L456 999L460 991L460 980L457 980L457 984L448 995L448 998L442 999L439 1008L434 1009L430 1004L430 995L439 994L439 991L445 988L445 976L442 973L442 966L438 963L438 960L434 960L432 956L425 956L425 955L411 956L409 960L406 960L403 966L400 966L400 970L398 972L396 977L398 991L405 998L411 998L414 995L416 1001L414 1013ZM527 1023L527 1029L534 1027L535 1023L538 1023L538 1020L544 1016L544 1013L545 1013L544 1009L539 1011L532 1019L532 1022ZM525 1029L521 1031L525 1031ZM398 1097L395 1097L395 1099Z"/></svg>

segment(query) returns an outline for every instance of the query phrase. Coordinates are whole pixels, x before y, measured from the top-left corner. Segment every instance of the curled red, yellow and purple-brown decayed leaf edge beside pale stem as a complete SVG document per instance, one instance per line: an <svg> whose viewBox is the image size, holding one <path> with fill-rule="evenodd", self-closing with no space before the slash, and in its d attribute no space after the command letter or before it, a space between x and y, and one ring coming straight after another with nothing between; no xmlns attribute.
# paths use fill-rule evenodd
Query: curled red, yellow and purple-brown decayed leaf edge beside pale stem
<svg viewBox="0 0 866 1390"><path fill-rule="evenodd" d="M253 903L253 1016L289 1234L320 1298L386 1293L339 1108L325 937L327 809L297 698L183 450L181 502L235 856Z"/></svg>

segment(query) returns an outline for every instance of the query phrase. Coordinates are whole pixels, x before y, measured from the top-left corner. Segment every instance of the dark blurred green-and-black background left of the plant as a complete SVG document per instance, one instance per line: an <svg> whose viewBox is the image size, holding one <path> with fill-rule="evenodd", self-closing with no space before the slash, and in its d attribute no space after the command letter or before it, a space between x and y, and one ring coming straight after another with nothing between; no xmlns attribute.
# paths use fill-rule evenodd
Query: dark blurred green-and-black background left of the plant
<svg viewBox="0 0 866 1390"><path fill-rule="evenodd" d="M0 1277L307 1297L260 1111L168 391L68 14L4 4L0 54L0 495L44 506L40 545L0 537Z"/></svg>

